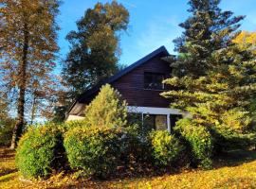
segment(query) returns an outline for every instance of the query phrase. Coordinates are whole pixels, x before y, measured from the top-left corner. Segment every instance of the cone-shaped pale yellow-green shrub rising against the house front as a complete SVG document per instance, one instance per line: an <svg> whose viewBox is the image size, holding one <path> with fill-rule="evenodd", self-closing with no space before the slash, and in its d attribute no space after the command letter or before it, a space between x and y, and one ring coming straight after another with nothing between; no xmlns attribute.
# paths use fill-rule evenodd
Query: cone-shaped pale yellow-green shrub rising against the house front
<svg viewBox="0 0 256 189"><path fill-rule="evenodd" d="M126 106L119 92L107 84L101 87L101 92L85 108L84 122L87 126L123 127L126 125Z"/></svg>

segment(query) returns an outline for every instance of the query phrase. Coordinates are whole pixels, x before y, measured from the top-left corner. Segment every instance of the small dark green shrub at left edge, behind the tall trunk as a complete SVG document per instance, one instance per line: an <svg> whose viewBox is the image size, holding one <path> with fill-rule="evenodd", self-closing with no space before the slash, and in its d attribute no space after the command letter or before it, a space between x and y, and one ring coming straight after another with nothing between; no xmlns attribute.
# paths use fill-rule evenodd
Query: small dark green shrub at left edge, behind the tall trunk
<svg viewBox="0 0 256 189"><path fill-rule="evenodd" d="M0 146L10 146L14 125L13 119L0 120Z"/></svg>

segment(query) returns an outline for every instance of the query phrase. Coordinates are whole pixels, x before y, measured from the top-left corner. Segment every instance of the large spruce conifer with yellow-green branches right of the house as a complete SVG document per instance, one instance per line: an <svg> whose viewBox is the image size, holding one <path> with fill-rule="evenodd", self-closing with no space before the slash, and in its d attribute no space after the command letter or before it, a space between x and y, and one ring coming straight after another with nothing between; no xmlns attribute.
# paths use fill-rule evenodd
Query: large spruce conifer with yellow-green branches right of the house
<svg viewBox="0 0 256 189"><path fill-rule="evenodd" d="M174 108L190 112L193 122L210 129L216 145L245 136L251 126L249 104L256 94L256 61L233 40L243 16L219 8L220 0L191 0L192 16L174 41L178 56L175 90L163 93ZM220 142L222 141L222 142Z"/></svg>

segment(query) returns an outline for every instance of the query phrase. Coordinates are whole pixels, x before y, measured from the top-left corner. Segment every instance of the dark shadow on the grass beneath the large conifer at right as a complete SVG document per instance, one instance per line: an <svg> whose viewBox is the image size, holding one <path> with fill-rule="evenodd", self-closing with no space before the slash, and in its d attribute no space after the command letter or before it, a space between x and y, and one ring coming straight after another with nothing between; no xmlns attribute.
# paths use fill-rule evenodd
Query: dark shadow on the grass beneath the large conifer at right
<svg viewBox="0 0 256 189"><path fill-rule="evenodd" d="M256 160L255 150L235 149L222 152L214 158L214 167L238 166L243 163L250 163Z"/></svg>

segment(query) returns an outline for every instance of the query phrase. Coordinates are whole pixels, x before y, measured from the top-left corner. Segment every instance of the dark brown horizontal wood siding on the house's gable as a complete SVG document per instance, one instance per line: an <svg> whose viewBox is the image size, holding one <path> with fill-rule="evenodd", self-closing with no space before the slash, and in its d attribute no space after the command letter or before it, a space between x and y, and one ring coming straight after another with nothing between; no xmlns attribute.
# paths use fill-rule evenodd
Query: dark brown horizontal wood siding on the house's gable
<svg viewBox="0 0 256 189"><path fill-rule="evenodd" d="M167 78L170 77L171 67L168 62L161 60L161 57L158 56L120 77L111 85L122 94L129 106L170 107L170 100L160 95L163 91L144 89L145 72L164 74Z"/></svg>

